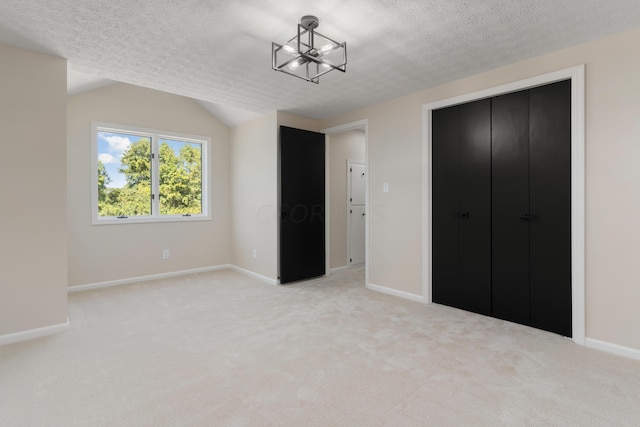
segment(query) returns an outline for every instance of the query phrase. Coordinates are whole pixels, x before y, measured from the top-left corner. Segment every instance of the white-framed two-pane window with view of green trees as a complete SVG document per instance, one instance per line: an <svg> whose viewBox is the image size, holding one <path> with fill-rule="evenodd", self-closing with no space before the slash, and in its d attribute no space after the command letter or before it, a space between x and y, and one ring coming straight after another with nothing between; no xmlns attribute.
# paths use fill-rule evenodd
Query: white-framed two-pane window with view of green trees
<svg viewBox="0 0 640 427"><path fill-rule="evenodd" d="M210 219L210 139L92 122L93 224Z"/></svg>

